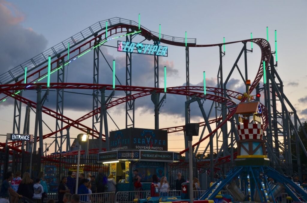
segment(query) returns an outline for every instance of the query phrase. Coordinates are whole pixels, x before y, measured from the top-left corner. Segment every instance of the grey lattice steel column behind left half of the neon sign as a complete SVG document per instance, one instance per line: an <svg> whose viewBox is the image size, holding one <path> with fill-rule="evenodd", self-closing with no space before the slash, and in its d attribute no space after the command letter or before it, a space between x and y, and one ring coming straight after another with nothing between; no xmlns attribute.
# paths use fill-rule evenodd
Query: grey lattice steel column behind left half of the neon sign
<svg viewBox="0 0 307 203"><path fill-rule="evenodd" d="M127 33L129 33L129 30L127 30ZM131 42L132 36L126 36L126 42ZM132 58L131 53L126 52L126 85L131 86L132 85ZM130 96L132 94L131 91L125 91L126 96ZM133 127L134 128L134 101L130 100L126 101L126 128Z"/></svg>

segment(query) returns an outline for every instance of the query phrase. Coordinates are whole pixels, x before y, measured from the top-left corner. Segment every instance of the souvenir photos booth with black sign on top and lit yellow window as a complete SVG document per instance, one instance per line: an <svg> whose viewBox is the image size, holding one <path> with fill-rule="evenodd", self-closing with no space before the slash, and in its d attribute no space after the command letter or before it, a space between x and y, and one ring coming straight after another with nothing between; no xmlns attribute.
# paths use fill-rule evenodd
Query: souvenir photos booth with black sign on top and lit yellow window
<svg viewBox="0 0 307 203"><path fill-rule="evenodd" d="M133 191L133 170L138 169L142 190L150 190L152 176L168 177L168 163L179 162L177 152L167 151L167 131L127 128L110 132L111 151L99 153L117 182L117 191Z"/></svg>

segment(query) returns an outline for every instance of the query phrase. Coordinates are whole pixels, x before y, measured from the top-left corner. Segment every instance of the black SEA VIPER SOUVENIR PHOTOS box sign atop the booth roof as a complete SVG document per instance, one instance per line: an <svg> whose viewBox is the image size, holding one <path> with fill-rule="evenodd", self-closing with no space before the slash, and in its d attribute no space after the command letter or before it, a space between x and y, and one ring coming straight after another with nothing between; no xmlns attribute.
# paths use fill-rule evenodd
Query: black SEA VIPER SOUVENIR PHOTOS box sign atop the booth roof
<svg viewBox="0 0 307 203"><path fill-rule="evenodd" d="M110 132L109 148L115 150L167 151L167 131L126 128Z"/></svg>

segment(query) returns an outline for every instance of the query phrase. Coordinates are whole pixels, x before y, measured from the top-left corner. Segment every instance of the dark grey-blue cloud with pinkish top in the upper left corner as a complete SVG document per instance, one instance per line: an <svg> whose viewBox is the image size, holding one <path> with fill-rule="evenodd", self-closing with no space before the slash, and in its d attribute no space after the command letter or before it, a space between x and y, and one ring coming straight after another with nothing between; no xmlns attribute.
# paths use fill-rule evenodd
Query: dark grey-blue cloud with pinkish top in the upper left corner
<svg viewBox="0 0 307 203"><path fill-rule="evenodd" d="M44 51L47 40L24 28L24 16L10 2L0 0L0 74Z"/></svg>

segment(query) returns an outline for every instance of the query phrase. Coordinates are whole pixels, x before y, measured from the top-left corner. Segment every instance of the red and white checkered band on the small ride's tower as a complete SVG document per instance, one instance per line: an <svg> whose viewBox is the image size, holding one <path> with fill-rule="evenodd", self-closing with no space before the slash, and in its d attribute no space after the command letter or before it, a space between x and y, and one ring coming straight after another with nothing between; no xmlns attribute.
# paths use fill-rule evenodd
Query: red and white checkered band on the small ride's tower
<svg viewBox="0 0 307 203"><path fill-rule="evenodd" d="M247 139L262 139L263 134L263 125L262 124L241 124L238 125L238 133L240 140Z"/></svg>

